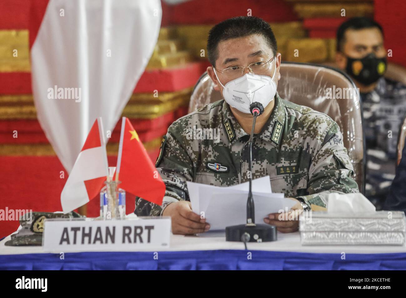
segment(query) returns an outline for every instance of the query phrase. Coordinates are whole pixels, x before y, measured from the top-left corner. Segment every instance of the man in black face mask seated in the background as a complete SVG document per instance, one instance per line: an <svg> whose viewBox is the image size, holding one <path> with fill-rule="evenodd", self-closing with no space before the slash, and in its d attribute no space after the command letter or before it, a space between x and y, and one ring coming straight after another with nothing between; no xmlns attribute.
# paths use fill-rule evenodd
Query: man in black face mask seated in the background
<svg viewBox="0 0 406 298"><path fill-rule="evenodd" d="M367 149L365 196L381 210L395 177L396 143L406 113L406 86L384 78L387 50L382 27L367 17L337 30L337 66L359 88Z"/></svg>

